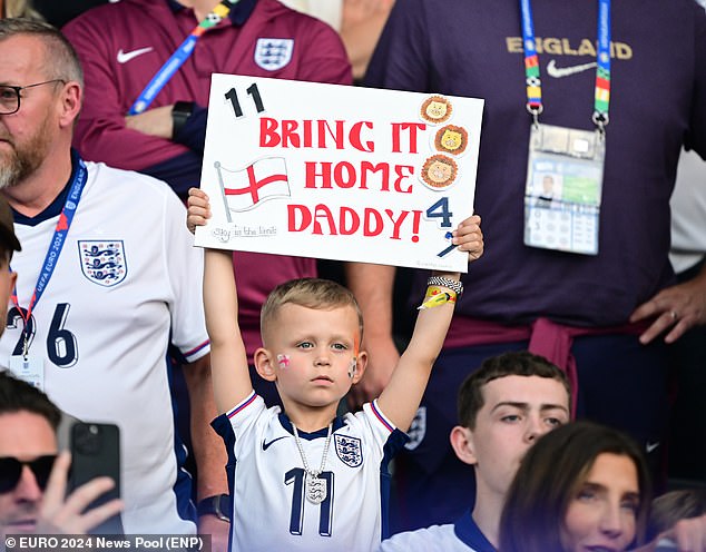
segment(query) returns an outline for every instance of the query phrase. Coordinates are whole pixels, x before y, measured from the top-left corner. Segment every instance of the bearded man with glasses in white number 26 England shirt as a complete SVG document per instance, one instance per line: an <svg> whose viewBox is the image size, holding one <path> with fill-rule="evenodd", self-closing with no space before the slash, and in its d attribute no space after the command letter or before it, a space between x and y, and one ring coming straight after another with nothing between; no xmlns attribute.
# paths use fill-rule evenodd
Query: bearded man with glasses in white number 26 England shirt
<svg viewBox="0 0 706 552"><path fill-rule="evenodd" d="M189 391L198 499L227 492L227 482L225 450L208 426L203 254L184 206L166 184L71 149L84 85L59 31L0 20L0 194L23 245L0 367L22 373L63 412L120 427L126 533L193 534L169 347ZM227 539L224 515L202 518L199 529Z"/></svg>

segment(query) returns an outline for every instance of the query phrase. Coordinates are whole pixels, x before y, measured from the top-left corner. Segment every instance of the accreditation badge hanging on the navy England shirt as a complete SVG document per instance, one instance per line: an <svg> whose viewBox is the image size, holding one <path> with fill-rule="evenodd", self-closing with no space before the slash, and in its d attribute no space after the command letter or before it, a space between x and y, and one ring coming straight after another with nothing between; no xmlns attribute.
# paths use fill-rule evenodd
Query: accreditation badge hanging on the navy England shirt
<svg viewBox="0 0 706 552"><path fill-rule="evenodd" d="M524 245L598 254L605 134L536 124L524 188Z"/></svg>

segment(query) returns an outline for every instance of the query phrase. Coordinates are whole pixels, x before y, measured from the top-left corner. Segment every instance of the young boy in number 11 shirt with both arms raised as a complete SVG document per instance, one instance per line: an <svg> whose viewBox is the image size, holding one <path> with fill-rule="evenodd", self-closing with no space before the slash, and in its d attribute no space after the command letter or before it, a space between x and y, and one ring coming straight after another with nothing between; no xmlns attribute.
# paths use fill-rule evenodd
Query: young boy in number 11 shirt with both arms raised
<svg viewBox="0 0 706 552"><path fill-rule="evenodd" d="M204 224L208 199L189 191L188 226ZM483 249L480 218L453 243L471 259ZM388 462L405 441L460 295L459 274L435 274L406 352L390 384L363 412L336 417L339 402L365 371L361 312L344 287L301 279L275 288L263 306L257 373L284 405L267 410L249 381L237 323L231 252L207 249L204 305L210 337L214 427L226 442L234 504L232 549L373 550L384 533ZM434 297L449 300L435 302ZM434 306L431 306L431 305Z"/></svg>

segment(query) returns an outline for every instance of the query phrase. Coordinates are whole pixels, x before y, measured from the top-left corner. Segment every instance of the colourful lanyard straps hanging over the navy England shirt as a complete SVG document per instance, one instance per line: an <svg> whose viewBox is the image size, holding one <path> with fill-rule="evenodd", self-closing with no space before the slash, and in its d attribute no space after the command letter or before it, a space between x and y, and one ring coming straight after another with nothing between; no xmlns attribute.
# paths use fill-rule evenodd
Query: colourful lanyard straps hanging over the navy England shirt
<svg viewBox="0 0 706 552"><path fill-rule="evenodd" d="M535 22L530 0L520 0L522 11L522 46L524 48L524 76L527 83L527 110L537 124L543 110L539 58L535 40ZM596 67L596 93L592 120L602 132L608 125L610 101L610 0L598 0L598 52Z"/></svg>

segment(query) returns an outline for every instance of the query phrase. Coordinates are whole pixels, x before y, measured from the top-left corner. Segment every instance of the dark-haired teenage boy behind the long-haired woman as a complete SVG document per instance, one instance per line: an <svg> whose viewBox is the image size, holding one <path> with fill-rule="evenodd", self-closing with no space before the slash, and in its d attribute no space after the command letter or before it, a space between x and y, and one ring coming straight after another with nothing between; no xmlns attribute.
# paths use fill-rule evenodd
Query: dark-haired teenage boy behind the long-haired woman
<svg viewBox="0 0 706 552"><path fill-rule="evenodd" d="M475 503L455 523L399 533L383 552L494 552L506 493L527 450L570 417L566 374L541 356L504 353L486 359L461 384L457 456L473 466ZM440 500L443 500L440 497Z"/></svg>

